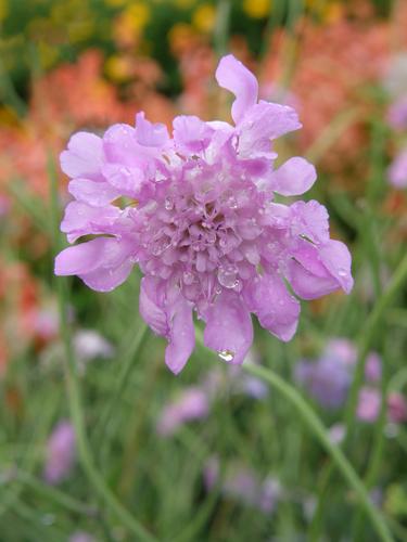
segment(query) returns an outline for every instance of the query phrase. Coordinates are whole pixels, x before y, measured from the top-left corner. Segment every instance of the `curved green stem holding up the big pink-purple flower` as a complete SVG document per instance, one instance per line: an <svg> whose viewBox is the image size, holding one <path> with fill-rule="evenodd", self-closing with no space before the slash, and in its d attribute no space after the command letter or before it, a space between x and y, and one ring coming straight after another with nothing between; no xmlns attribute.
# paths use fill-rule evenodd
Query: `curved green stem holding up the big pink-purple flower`
<svg viewBox="0 0 407 542"><path fill-rule="evenodd" d="M329 453L330 457L335 463L342 476L359 498L360 505L363 506L365 513L369 516L380 540L382 540L383 542L392 542L393 538L387 529L382 514L374 507L374 505L370 501L369 494L366 491L366 488L356 474L355 469L347 461L342 450L329 439L321 421L313 411L313 409L307 404L307 402L300 396L295 388L290 386L290 384L283 380L270 369L265 369L252 363L245 363L242 365L242 367L253 376L262 378L270 386L274 386L282 396L284 396L287 400L291 402L291 404L296 408L300 416L306 423L308 428L314 433L314 435L318 438L320 444Z"/></svg>

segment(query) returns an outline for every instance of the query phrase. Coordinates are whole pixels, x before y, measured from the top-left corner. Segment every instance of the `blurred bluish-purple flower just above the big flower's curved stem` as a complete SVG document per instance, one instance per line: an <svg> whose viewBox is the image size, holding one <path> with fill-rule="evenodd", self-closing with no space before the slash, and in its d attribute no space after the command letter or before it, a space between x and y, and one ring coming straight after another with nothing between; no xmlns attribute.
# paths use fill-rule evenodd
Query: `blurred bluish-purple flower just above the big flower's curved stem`
<svg viewBox="0 0 407 542"><path fill-rule="evenodd" d="M322 357L317 361L301 360L294 376L314 399L328 409L338 409L344 403L351 385L346 363L334 357Z"/></svg>

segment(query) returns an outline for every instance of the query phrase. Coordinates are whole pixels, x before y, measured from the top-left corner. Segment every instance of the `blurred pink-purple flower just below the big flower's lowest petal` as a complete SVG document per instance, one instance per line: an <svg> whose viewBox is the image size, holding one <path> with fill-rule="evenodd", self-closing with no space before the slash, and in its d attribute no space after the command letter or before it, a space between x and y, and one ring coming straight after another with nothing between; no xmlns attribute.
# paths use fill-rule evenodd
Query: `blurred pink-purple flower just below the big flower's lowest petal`
<svg viewBox="0 0 407 542"><path fill-rule="evenodd" d="M204 390L198 387L186 388L176 401L167 404L158 418L157 433L169 436L180 425L192 420L202 420L208 415L209 400Z"/></svg>

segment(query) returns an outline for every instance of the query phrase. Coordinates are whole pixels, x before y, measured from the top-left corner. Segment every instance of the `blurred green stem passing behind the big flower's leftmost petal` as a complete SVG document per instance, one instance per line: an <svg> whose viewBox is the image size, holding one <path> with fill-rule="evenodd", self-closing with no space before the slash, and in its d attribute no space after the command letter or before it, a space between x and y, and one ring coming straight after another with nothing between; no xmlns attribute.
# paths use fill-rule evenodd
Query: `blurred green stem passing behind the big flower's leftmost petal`
<svg viewBox="0 0 407 542"><path fill-rule="evenodd" d="M49 178L51 183L51 218L53 225L58 224L58 192L56 192L56 172L52 158L49 159ZM55 248L58 248L58 229L53 228ZM90 451L84 421L84 411L80 400L79 379L75 357L72 348L71 333L67 322L67 287L65 279L56 280L56 295L60 313L60 333L62 336L66 363L66 388L69 402L71 417L75 428L76 443L80 464L84 468L89 482L93 486L97 493L104 500L106 505L123 522L123 525L135 535L137 540L154 541L155 538L150 534L144 527L122 505L116 495L105 483L102 475L98 472Z"/></svg>

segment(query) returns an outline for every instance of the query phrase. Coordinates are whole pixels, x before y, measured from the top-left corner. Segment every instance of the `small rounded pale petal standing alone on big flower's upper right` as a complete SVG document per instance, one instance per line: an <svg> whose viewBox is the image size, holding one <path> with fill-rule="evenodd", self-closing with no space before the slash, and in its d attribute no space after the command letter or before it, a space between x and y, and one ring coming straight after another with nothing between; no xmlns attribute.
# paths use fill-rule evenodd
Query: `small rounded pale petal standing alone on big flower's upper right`
<svg viewBox="0 0 407 542"><path fill-rule="evenodd" d="M295 156L272 171L269 186L283 196L298 196L307 192L316 179L315 167L306 159Z"/></svg>

